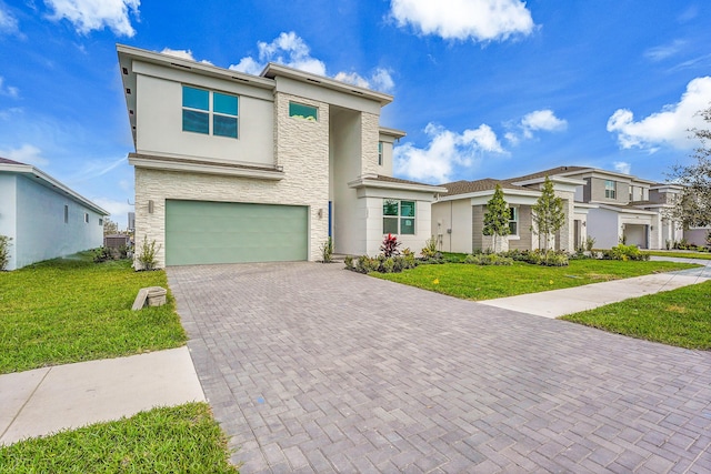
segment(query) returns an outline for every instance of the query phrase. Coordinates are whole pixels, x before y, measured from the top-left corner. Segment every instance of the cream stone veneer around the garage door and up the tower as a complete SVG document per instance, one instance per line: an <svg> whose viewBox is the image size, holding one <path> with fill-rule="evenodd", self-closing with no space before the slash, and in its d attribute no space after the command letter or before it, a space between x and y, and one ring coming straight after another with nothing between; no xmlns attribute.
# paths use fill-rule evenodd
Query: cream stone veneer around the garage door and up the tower
<svg viewBox="0 0 711 474"><path fill-rule="evenodd" d="M289 117L290 100L318 107L319 120ZM281 181L136 168L137 245L144 238L160 244L159 266L166 265L166 200L170 199L307 205L309 260L319 260L319 248L328 238L329 105L276 93L274 114L274 155L276 164L283 168ZM149 200L153 201L152 214L148 213Z"/></svg>

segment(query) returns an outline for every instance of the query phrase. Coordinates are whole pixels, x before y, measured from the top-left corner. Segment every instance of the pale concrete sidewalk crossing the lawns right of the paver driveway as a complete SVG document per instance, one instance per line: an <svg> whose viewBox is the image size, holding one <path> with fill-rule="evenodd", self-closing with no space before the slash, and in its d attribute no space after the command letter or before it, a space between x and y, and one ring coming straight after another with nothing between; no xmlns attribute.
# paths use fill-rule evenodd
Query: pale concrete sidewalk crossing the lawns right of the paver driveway
<svg viewBox="0 0 711 474"><path fill-rule="evenodd" d="M661 291L671 291L711 279L711 261L679 258L653 258L674 262L698 263L704 266L682 270L679 272L657 273L633 279L615 280L612 282L593 283L564 290L553 290L543 293L521 294L518 296L500 297L481 301L488 306L502 307L520 313L534 314L543 317L559 317L565 314L592 310L605 304L631 297L645 296Z"/></svg>

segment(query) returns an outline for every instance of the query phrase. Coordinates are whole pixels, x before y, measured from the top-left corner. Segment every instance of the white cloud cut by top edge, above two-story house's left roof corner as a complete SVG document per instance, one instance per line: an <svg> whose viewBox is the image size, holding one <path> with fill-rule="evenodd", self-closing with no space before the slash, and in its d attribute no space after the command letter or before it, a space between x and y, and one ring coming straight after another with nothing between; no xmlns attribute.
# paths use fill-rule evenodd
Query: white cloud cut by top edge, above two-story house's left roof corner
<svg viewBox="0 0 711 474"><path fill-rule="evenodd" d="M81 34L108 27L117 36L132 37L136 30L129 13L138 17L141 0L44 0L44 3L54 10L50 19L66 18Z"/></svg>

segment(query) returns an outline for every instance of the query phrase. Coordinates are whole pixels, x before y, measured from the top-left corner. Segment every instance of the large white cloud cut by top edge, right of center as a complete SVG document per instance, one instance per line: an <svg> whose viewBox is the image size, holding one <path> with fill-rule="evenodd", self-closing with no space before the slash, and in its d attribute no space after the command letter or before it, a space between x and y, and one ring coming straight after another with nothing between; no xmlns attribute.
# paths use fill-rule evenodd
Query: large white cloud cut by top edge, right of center
<svg viewBox="0 0 711 474"><path fill-rule="evenodd" d="M392 0L391 16L399 27L411 24L422 34L448 40L505 40L534 27L520 0Z"/></svg>

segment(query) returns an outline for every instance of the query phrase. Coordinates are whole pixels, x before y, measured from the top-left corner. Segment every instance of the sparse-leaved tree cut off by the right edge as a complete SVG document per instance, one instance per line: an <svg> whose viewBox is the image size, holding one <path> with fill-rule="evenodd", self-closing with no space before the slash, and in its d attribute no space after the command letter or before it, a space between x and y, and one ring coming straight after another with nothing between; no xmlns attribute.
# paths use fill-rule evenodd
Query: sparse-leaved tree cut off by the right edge
<svg viewBox="0 0 711 474"><path fill-rule="evenodd" d="M699 114L711 123L711 107ZM691 129L701 145L695 150L695 163L675 164L669 179L683 186L670 216L680 221L684 229L711 224L711 130Z"/></svg>

